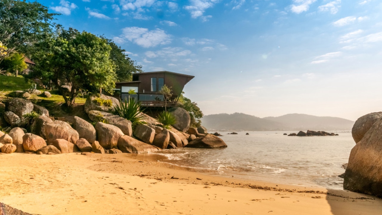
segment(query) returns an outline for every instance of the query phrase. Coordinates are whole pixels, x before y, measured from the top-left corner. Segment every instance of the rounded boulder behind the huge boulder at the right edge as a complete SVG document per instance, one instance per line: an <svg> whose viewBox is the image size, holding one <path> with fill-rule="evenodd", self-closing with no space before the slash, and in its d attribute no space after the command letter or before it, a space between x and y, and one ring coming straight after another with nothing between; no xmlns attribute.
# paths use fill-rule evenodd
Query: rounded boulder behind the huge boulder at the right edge
<svg viewBox="0 0 382 215"><path fill-rule="evenodd" d="M358 143L380 117L382 117L382 112L373 112L359 117L351 129L354 141Z"/></svg>

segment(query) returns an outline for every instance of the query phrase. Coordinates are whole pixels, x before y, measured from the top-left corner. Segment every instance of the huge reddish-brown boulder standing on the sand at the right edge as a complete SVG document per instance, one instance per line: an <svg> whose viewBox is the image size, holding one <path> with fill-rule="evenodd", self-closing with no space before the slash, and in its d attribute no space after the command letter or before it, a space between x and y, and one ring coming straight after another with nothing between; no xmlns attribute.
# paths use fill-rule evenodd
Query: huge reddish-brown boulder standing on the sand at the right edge
<svg viewBox="0 0 382 215"><path fill-rule="evenodd" d="M382 118L351 149L343 188L382 197Z"/></svg>

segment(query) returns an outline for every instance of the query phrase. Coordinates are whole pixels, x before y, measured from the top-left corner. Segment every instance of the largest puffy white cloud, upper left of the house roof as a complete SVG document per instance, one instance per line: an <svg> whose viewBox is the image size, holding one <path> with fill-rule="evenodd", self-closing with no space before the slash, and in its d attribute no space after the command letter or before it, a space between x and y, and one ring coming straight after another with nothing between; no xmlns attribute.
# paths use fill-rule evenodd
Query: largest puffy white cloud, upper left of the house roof
<svg viewBox="0 0 382 215"><path fill-rule="evenodd" d="M145 48L171 43L171 36L159 28L149 30L147 28L127 27L122 29L122 34L119 37L113 39L119 43L128 40Z"/></svg>

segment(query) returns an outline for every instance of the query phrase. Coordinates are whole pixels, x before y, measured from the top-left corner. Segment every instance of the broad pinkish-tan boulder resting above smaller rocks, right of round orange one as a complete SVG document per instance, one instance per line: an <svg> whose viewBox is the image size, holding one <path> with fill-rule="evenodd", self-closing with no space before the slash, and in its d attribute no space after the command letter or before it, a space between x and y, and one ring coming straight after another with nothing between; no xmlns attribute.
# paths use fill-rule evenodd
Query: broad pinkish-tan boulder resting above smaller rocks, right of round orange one
<svg viewBox="0 0 382 215"><path fill-rule="evenodd" d="M78 132L67 122L56 120L45 124L44 128L48 143L53 143L56 139L64 139L74 144L79 139Z"/></svg>

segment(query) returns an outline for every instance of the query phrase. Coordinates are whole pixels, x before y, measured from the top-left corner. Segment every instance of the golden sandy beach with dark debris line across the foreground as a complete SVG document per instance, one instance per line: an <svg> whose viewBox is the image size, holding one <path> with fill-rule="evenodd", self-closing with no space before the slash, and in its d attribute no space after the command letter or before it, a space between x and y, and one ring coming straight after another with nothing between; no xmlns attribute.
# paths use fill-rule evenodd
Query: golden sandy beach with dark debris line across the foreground
<svg viewBox="0 0 382 215"><path fill-rule="evenodd" d="M39 215L380 215L348 191L213 176L154 155L0 154L0 202Z"/></svg>

